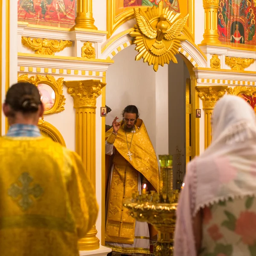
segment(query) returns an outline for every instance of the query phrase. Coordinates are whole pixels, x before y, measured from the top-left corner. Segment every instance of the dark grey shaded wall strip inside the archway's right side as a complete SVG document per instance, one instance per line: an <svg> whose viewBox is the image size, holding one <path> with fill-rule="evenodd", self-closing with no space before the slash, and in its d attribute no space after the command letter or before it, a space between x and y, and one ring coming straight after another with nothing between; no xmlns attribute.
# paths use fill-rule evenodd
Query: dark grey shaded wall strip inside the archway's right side
<svg viewBox="0 0 256 256"><path fill-rule="evenodd" d="M169 154L173 155L173 186L177 179L177 148L181 150L180 170L186 167L186 79L189 71L179 55L169 64Z"/></svg>

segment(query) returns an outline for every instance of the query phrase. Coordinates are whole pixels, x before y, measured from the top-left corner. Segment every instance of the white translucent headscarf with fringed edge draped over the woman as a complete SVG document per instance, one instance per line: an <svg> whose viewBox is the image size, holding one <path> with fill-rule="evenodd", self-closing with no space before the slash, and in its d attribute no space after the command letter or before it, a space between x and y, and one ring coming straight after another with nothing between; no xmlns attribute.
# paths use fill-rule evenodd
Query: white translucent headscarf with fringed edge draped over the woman
<svg viewBox="0 0 256 256"><path fill-rule="evenodd" d="M228 198L256 195L256 118L238 96L220 99L212 116L212 144L186 170L175 227L174 256L196 256L193 216Z"/></svg>

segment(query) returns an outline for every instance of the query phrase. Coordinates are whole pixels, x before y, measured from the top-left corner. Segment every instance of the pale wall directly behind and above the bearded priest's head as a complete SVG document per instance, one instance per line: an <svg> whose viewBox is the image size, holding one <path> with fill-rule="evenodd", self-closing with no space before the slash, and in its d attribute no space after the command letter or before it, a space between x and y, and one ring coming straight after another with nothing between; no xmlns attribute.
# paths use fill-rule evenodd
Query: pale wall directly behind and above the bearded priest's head
<svg viewBox="0 0 256 256"><path fill-rule="evenodd" d="M112 125L115 116L122 120L122 110L136 105L145 122L151 142L156 148L156 73L152 66L135 61L137 51L132 45L114 56L106 74L106 105L112 109L106 124Z"/></svg>

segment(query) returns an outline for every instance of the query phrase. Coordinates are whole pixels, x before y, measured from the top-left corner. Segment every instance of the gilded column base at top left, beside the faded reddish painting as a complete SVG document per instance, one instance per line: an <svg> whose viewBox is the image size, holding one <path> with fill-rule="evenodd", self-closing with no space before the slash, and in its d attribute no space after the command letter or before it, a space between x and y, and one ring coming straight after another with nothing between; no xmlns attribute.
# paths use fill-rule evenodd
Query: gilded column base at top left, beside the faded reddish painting
<svg viewBox="0 0 256 256"><path fill-rule="evenodd" d="M77 0L75 28L97 30L94 21L93 0Z"/></svg>

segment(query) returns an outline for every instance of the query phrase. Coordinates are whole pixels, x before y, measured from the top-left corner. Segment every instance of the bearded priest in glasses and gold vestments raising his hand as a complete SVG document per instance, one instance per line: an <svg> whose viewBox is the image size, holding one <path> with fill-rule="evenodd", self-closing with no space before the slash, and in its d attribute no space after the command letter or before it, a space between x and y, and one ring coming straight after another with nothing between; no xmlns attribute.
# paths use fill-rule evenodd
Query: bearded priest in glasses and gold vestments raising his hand
<svg viewBox="0 0 256 256"><path fill-rule="evenodd" d="M159 169L154 148L138 109L127 106L123 121L113 120L106 132L106 154L113 155L106 200L106 246L112 254L149 254L146 222L135 221L123 207L124 201L142 187L158 190Z"/></svg>

